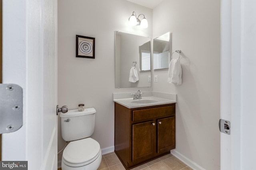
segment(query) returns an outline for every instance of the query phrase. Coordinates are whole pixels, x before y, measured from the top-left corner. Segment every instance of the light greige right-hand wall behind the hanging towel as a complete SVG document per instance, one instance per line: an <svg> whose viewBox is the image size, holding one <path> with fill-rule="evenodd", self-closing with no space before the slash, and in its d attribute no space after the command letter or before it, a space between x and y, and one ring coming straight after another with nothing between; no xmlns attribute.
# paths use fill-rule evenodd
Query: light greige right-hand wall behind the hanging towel
<svg viewBox="0 0 256 170"><path fill-rule="evenodd" d="M172 51L182 51L182 85L166 82L167 69L156 70L153 89L177 94L176 151L220 169L220 0L163 1L153 10L153 38L168 31Z"/></svg>

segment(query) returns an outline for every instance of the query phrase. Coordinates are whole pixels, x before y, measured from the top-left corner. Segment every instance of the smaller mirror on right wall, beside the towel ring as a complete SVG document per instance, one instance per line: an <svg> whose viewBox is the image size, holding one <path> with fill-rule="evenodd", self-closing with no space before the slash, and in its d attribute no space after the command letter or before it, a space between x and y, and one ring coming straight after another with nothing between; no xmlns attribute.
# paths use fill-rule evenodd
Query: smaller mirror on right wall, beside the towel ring
<svg viewBox="0 0 256 170"><path fill-rule="evenodd" d="M170 32L153 39L153 69L168 68L170 63Z"/></svg>

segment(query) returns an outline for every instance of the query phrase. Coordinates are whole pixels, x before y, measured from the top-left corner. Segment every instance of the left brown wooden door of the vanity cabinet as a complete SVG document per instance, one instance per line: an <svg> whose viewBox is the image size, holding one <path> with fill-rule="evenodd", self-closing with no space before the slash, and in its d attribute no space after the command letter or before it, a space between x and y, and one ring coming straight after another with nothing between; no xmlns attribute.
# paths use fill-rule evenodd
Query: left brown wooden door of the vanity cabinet
<svg viewBox="0 0 256 170"><path fill-rule="evenodd" d="M156 153L156 122L132 125L132 162L141 162Z"/></svg>

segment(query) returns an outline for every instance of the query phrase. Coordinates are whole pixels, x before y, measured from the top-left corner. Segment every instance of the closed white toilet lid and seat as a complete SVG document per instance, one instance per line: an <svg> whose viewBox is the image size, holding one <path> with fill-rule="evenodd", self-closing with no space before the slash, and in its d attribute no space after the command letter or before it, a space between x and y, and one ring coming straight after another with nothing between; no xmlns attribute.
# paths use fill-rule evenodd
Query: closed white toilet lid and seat
<svg viewBox="0 0 256 170"><path fill-rule="evenodd" d="M100 144L92 138L70 142L64 149L62 161L72 167L90 164L101 156Z"/></svg>

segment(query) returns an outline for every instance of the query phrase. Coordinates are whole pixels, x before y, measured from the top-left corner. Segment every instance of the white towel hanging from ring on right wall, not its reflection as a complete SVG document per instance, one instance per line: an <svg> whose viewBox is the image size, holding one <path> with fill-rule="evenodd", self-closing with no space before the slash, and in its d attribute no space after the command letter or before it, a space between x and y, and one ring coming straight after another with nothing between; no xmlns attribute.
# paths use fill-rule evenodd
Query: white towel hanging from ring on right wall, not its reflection
<svg viewBox="0 0 256 170"><path fill-rule="evenodd" d="M167 82L180 85L182 83L181 75L182 75L182 70L180 66L180 60L172 59L169 64Z"/></svg>

